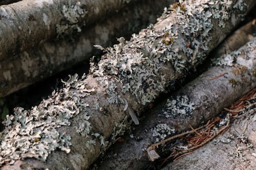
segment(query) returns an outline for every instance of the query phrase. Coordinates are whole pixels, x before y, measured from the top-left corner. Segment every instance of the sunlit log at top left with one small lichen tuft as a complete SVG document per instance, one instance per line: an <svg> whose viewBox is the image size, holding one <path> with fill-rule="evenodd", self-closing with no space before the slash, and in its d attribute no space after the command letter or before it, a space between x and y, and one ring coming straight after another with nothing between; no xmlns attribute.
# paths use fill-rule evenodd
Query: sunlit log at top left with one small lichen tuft
<svg viewBox="0 0 256 170"><path fill-rule="evenodd" d="M66 38L79 33L82 26L102 20L130 2L24 0L0 6L0 61L49 38Z"/></svg>

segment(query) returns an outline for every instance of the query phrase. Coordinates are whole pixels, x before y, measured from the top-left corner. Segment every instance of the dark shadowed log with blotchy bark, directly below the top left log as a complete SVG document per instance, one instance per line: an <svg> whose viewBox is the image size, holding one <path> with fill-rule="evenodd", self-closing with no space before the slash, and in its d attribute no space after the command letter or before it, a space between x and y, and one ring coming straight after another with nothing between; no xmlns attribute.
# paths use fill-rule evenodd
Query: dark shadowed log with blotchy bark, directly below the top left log
<svg viewBox="0 0 256 170"><path fill-rule="evenodd" d="M108 19L83 29L74 40L45 42L33 50L0 61L0 97L84 60L89 62L93 55L99 55L94 44L110 46L116 42L116 37L129 37L139 32L154 23L163 6L171 2L173 0L145 0L131 4Z"/></svg>

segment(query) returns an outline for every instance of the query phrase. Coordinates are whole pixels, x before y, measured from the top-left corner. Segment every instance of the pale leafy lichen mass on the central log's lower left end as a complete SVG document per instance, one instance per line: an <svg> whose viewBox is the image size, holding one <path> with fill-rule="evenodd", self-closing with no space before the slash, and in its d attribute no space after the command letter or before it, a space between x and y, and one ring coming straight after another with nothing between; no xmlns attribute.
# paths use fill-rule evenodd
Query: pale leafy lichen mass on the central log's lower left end
<svg viewBox="0 0 256 170"><path fill-rule="evenodd" d="M88 104L81 99L90 95L94 88L86 86L84 77L70 76L65 88L53 92L51 98L43 100L31 110L15 108L14 115L8 115L1 133L0 164L12 164L22 158L36 158L46 161L48 155L60 149L70 152L71 137L60 132L61 126L70 126L70 119L78 113L84 114L86 126L78 127L83 135L90 133ZM79 124L78 124L79 125Z"/></svg>

